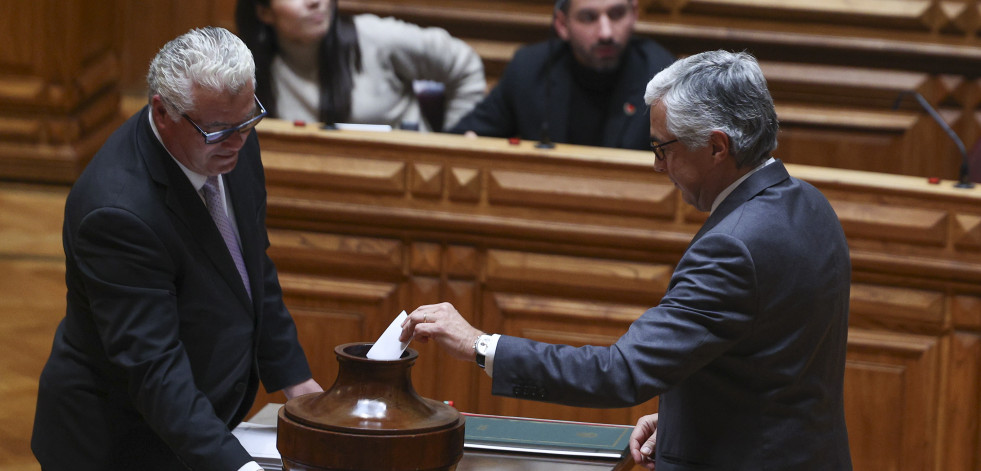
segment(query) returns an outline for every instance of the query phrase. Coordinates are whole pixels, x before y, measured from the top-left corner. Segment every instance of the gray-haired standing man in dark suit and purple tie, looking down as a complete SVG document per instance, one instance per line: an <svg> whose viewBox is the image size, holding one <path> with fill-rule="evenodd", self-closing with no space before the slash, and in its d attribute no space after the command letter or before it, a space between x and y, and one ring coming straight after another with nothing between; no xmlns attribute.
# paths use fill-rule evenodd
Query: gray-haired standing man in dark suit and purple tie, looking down
<svg viewBox="0 0 981 471"><path fill-rule="evenodd" d="M147 81L65 205L68 309L31 447L46 471L257 470L230 430L259 381L322 389L266 255L252 55L192 30Z"/></svg>

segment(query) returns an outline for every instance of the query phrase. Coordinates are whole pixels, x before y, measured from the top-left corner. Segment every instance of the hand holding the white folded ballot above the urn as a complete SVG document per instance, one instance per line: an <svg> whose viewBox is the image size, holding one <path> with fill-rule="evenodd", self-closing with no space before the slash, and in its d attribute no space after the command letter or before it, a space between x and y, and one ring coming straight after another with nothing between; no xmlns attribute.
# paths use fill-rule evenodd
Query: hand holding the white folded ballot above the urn
<svg viewBox="0 0 981 471"><path fill-rule="evenodd" d="M473 344L483 332L470 325L450 303L419 306L402 323L399 340L415 338L421 343L430 339L460 360L473 361Z"/></svg>

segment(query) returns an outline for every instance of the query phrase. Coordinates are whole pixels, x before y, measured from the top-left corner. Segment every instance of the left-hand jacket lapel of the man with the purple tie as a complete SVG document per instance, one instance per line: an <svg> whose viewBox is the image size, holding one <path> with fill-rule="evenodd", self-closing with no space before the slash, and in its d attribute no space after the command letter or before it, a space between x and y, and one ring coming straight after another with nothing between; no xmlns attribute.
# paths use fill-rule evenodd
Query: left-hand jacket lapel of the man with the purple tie
<svg viewBox="0 0 981 471"><path fill-rule="evenodd" d="M218 228L211 219L201 196L191 186L190 180L177 166L174 159L167 153L167 149L153 135L147 114L148 108L144 108L140 115L140 127L144 132L140 133L138 145L151 178L164 186L166 192L164 200L175 219L185 226L187 233L191 234L201 251L211 260L215 270L232 288L239 301L242 302L248 312L253 313L249 295L245 292L242 277L239 276L235 262L232 260L231 254L228 253L225 240L218 232ZM236 207L236 215L238 215L237 211L238 208ZM242 232L241 228L239 232ZM251 275L249 277L251 278Z"/></svg>

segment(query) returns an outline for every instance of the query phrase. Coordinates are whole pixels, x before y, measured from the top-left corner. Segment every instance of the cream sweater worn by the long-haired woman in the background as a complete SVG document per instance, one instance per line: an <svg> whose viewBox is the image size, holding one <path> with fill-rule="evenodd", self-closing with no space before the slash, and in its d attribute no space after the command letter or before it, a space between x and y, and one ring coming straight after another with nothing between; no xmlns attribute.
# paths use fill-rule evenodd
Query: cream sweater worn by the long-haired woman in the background
<svg viewBox="0 0 981 471"><path fill-rule="evenodd" d="M440 28L421 28L395 18L354 17L362 70L354 76L352 123L418 123L422 119L413 82L430 80L446 87L444 127L449 129L483 98L484 66L465 42ZM316 48L284 48L273 60L275 116L319 121Z"/></svg>

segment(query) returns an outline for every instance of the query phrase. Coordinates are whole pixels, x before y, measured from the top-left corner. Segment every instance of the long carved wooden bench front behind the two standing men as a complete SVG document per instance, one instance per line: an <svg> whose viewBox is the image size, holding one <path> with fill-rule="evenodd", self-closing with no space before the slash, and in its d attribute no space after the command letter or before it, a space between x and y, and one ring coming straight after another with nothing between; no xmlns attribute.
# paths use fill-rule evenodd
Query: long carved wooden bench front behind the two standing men
<svg viewBox="0 0 981 471"><path fill-rule="evenodd" d="M402 309L440 301L487 331L610 344L658 303L705 219L653 171L649 152L275 120L260 125L260 140L270 254L324 383L336 375L335 345L372 341ZM827 195L849 239L845 404L856 469L975 469L981 188L788 169ZM419 393L461 411L633 424L656 410L492 397L473 365L413 348Z"/></svg>

